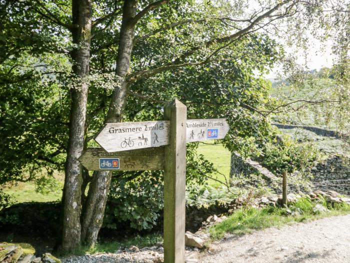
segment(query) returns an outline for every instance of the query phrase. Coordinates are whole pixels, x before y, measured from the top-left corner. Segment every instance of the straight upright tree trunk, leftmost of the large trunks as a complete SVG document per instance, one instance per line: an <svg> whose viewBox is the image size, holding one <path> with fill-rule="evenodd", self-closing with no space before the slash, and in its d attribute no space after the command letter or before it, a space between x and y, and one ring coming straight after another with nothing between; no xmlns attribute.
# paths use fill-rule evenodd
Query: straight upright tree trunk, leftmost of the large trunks
<svg viewBox="0 0 350 263"><path fill-rule="evenodd" d="M80 80L71 94L69 141L65 163L63 191L62 250L70 251L80 245L81 166L77 158L84 148L88 84L84 78L89 71L91 39L91 0L72 1L72 71Z"/></svg>

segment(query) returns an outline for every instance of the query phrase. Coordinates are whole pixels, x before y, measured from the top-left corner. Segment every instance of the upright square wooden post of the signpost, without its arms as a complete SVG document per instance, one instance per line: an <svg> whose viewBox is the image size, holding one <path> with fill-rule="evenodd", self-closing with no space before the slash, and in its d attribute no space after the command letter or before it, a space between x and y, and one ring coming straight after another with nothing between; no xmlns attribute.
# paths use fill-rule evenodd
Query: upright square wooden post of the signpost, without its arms
<svg viewBox="0 0 350 263"><path fill-rule="evenodd" d="M184 262L186 112L186 106L176 99L164 108L164 119L170 121L164 167L165 263Z"/></svg>

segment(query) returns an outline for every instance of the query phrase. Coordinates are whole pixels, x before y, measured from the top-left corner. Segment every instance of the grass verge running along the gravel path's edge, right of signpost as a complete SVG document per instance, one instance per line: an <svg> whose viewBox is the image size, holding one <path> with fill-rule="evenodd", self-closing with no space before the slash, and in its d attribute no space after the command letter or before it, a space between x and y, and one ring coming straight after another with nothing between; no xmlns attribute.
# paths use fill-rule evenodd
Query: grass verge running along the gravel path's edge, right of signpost
<svg viewBox="0 0 350 263"><path fill-rule="evenodd" d="M322 199L321 199L322 200ZM322 200L321 204L325 204ZM286 210L280 207L265 208L242 208L235 211L221 223L215 224L209 228L212 239L219 239L225 233L245 234L252 230L259 230L267 227L280 227L285 224L293 224L307 220L314 220L326 216L335 216L350 213L350 205L342 203L335 207L328 207L329 211L323 213L314 213L312 211L315 203L308 198L300 198L294 205L290 205L290 210L301 209L301 215L286 215Z"/></svg>

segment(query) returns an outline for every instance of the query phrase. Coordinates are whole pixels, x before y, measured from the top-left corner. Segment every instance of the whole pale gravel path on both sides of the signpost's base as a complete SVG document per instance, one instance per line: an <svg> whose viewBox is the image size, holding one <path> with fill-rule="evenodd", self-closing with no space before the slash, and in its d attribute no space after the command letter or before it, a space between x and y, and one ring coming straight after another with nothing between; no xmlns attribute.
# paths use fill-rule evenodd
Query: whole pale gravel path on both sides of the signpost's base
<svg viewBox="0 0 350 263"><path fill-rule="evenodd" d="M208 250L186 249L186 263L350 263L350 214L308 223L267 228L242 236L226 235L211 243ZM62 263L153 263L161 262L163 248L145 247L62 258ZM158 259L158 260L156 260Z"/></svg>

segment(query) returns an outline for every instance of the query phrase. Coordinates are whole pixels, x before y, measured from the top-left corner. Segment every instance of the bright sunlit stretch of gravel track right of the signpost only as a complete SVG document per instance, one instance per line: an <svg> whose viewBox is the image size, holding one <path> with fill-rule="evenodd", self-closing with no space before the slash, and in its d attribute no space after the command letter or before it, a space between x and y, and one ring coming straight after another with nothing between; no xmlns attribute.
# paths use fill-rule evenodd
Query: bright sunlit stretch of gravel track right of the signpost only
<svg viewBox="0 0 350 263"><path fill-rule="evenodd" d="M350 263L350 214L227 235L201 252L199 262L347 262Z"/></svg>

